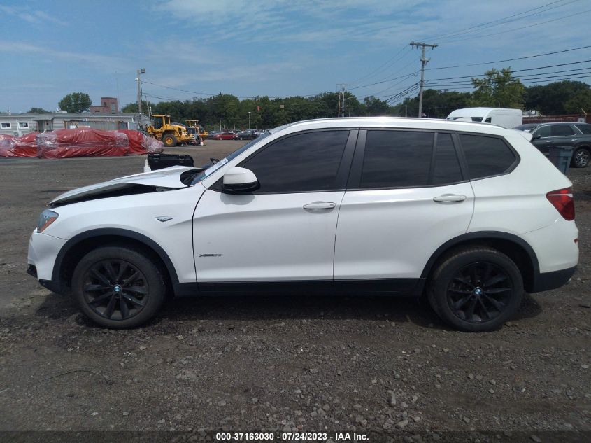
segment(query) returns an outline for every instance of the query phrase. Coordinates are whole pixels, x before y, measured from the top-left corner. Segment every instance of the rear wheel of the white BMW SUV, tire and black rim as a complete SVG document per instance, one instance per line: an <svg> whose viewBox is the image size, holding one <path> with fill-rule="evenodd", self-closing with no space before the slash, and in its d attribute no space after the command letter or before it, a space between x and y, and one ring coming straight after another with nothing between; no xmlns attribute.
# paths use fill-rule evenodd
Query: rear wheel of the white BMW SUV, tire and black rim
<svg viewBox="0 0 591 443"><path fill-rule="evenodd" d="M519 309L523 279L513 260L486 247L456 250L436 267L429 304L450 326L467 332L499 328Z"/></svg>

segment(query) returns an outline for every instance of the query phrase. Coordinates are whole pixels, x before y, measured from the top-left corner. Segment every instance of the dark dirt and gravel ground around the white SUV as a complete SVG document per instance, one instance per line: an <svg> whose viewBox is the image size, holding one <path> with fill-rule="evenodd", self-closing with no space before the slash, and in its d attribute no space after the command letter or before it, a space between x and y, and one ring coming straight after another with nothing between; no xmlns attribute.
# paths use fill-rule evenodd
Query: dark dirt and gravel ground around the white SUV
<svg viewBox="0 0 591 443"><path fill-rule="evenodd" d="M241 144L172 152L198 166ZM569 173L581 245L573 280L526 295L496 332L450 330L413 300L280 293L173 300L143 328L97 328L25 273L27 242L50 199L143 162L0 160L0 430L591 438L591 167Z"/></svg>

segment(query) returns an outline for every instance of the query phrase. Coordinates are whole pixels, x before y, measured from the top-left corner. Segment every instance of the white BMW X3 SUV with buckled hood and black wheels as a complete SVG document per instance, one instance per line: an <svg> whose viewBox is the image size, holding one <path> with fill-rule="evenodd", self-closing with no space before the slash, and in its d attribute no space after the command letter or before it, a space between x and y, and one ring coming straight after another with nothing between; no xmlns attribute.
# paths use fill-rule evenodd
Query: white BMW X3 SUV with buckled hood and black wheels
<svg viewBox="0 0 591 443"><path fill-rule="evenodd" d="M498 328L578 262L571 182L494 125L331 118L271 129L208 167L66 192L29 274L108 328L166 293L426 295L449 325Z"/></svg>

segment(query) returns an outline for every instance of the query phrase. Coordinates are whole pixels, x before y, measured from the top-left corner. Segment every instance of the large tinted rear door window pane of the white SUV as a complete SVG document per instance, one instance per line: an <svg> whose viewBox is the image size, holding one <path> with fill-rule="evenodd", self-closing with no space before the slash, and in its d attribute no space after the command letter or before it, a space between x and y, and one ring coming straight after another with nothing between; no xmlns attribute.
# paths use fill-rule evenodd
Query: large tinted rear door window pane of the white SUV
<svg viewBox="0 0 591 443"><path fill-rule="evenodd" d="M428 185L432 155L432 133L368 131L360 188Z"/></svg>

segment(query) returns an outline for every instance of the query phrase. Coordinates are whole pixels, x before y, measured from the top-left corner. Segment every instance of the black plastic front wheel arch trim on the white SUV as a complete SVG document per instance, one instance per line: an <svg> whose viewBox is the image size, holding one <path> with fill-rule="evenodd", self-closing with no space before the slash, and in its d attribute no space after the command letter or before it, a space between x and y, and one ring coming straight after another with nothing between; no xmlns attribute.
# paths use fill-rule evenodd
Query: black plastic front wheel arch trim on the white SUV
<svg viewBox="0 0 591 443"><path fill-rule="evenodd" d="M166 254L166 252L164 252L164 249L162 248L162 246L160 246L154 240L150 239L149 237L146 237L143 234L138 234L138 232L134 232L134 231L126 230L126 229L121 229L121 228L117 228L117 227L105 227L105 228L99 228L99 229L94 229L94 230L82 232L78 235L75 235L74 237L72 237L68 241L66 241L66 244L64 244L64 246L62 246L62 249L59 251L59 253L57 254L57 257L55 258L55 263L53 265L53 272L52 272L52 280L59 281L59 271L62 269L62 262L64 261L64 257L71 250L71 248L73 248L74 246L79 244L80 241L92 239L94 237L106 237L106 236L127 237L128 239L133 239L133 240L139 241L140 243L145 244L145 246L148 246L149 248L151 248L152 251L154 251L159 256L159 258L162 260L162 262L164 262L164 265L166 266L166 269L169 272L169 276L171 278L171 283L173 283L173 285L178 283L178 276L176 274L176 269L174 269L174 266L172 264L171 259L169 258L169 255Z"/></svg>

